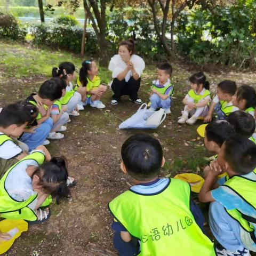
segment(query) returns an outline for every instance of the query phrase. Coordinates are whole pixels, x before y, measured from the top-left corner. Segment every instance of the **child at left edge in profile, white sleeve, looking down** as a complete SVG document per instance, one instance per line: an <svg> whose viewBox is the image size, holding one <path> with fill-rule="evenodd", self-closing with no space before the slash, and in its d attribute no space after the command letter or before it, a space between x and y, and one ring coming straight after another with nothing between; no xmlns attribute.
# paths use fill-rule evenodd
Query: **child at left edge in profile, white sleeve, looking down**
<svg viewBox="0 0 256 256"><path fill-rule="evenodd" d="M34 111L33 106L13 103L0 113L0 179L13 164L27 156L14 139L25 131L31 111Z"/></svg>

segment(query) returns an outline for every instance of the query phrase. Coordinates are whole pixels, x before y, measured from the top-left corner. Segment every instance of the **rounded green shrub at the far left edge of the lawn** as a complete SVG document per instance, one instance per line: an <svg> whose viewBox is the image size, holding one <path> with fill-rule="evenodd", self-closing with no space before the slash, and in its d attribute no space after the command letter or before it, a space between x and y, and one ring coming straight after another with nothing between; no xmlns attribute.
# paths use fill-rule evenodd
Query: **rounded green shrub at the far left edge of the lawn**
<svg viewBox="0 0 256 256"><path fill-rule="evenodd" d="M19 26L15 17L9 13L0 11L0 36L9 37L11 39L25 40L27 30L25 27Z"/></svg>

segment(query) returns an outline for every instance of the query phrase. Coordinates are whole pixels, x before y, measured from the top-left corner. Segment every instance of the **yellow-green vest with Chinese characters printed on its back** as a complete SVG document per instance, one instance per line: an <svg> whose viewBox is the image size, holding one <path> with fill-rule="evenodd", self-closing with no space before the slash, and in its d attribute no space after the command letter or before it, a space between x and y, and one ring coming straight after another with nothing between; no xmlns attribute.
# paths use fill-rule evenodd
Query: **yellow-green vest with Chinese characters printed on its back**
<svg viewBox="0 0 256 256"><path fill-rule="evenodd" d="M210 239L198 227L189 209L190 186L169 179L158 194L126 191L109 203L114 218L141 241L138 255L215 255Z"/></svg>

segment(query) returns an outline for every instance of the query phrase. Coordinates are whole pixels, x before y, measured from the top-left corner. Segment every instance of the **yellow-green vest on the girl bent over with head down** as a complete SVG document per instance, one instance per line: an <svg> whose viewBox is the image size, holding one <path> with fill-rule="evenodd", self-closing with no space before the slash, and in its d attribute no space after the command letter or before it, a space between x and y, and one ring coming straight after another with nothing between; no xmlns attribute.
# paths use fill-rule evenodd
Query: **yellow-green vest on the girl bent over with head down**
<svg viewBox="0 0 256 256"><path fill-rule="evenodd" d="M37 220L37 215L35 211L31 210L28 205L32 203L36 198L37 194L30 196L26 201L19 202L15 201L5 190L5 181L9 173L12 169L27 159L35 160L38 165L42 165L45 156L43 153L37 151L31 155L28 155L21 159L18 163L14 164L3 176L0 180L0 215L5 219L13 219L13 220L27 220L27 221L35 221Z"/></svg>

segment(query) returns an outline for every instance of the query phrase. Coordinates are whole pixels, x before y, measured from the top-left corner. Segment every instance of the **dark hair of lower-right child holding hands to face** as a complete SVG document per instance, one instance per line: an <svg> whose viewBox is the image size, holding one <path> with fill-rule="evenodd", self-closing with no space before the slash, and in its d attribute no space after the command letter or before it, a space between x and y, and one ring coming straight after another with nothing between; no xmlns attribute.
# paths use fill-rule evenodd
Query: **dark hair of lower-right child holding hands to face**
<svg viewBox="0 0 256 256"><path fill-rule="evenodd" d="M256 167L256 145L239 134L231 135L224 145L224 159L239 175L252 172Z"/></svg>

